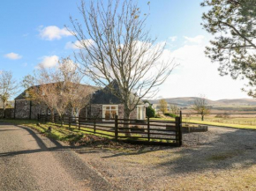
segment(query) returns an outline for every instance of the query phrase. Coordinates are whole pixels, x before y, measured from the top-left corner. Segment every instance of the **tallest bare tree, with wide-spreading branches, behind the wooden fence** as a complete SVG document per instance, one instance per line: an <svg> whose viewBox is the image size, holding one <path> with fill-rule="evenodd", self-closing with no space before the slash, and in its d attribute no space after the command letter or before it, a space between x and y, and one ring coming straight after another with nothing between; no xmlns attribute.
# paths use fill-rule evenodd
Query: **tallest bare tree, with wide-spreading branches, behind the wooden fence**
<svg viewBox="0 0 256 191"><path fill-rule="evenodd" d="M103 1L87 7L82 1L79 11L84 24L71 17L70 30L79 42L76 62L94 84L109 85L129 119L142 98L155 95L175 64L162 59L165 44L155 44L145 29L148 14L132 0L109 0L106 7Z"/></svg>

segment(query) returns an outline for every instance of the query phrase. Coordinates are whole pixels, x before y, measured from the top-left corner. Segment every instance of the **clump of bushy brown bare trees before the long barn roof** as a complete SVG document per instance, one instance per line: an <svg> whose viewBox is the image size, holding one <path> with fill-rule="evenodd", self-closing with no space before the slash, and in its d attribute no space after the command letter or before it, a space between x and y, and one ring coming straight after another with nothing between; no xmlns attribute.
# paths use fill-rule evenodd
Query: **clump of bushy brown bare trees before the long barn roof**
<svg viewBox="0 0 256 191"><path fill-rule="evenodd" d="M34 76L26 76L23 84L30 87L27 90L30 94L28 99L46 104L51 111L52 120L54 111L63 119L68 110L74 111L70 107L79 111L87 103L83 103L88 95L87 86L79 84L83 77L77 65L67 57L54 69L39 65L39 69L34 71Z"/></svg>

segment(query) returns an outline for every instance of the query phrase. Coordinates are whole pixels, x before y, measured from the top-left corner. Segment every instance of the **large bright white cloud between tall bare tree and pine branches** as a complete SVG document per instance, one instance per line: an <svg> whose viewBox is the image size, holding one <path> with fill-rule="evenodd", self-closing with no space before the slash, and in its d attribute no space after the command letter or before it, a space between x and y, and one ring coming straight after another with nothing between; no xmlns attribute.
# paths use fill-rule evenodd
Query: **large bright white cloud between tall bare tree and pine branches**
<svg viewBox="0 0 256 191"><path fill-rule="evenodd" d="M192 97L205 94L208 99L246 98L241 88L246 80L221 77L218 63L212 63L204 54L206 44L184 45L174 51L166 50L165 56L175 57L180 65L160 86L157 96L163 98ZM248 98L248 97L247 97Z"/></svg>

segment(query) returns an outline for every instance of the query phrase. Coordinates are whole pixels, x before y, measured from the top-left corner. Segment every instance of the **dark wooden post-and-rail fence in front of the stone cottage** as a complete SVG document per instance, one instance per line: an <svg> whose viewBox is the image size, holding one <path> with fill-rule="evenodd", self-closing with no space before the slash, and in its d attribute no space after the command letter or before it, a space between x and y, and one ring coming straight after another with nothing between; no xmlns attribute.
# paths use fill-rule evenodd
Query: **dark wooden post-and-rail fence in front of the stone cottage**
<svg viewBox="0 0 256 191"><path fill-rule="evenodd" d="M103 118L84 118L64 115L62 118L54 116L52 121L50 115L38 114L40 122L55 122L69 127L79 129L82 132L101 136L108 136L116 141L127 141L130 143L155 143L182 145L182 115L176 117L175 121L149 120L125 120L118 119L116 115L112 121Z"/></svg>

